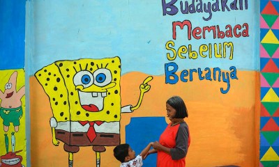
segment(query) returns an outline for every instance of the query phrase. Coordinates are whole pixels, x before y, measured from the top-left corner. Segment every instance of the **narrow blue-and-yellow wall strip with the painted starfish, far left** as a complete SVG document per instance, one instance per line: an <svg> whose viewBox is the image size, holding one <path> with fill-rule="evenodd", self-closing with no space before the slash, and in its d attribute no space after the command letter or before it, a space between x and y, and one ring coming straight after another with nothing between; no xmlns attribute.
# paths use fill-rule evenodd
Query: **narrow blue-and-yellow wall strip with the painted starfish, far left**
<svg viewBox="0 0 279 167"><path fill-rule="evenodd" d="M27 166L25 1L0 1L0 166Z"/></svg>

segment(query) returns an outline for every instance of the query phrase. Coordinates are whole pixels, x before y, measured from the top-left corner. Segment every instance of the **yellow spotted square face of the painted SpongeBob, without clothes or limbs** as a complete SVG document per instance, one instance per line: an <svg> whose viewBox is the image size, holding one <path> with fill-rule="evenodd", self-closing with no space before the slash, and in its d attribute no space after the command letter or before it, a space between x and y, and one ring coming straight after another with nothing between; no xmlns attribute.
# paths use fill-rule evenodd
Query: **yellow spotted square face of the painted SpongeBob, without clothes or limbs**
<svg viewBox="0 0 279 167"><path fill-rule="evenodd" d="M57 121L120 120L119 57L54 64L36 72L36 78L50 97Z"/></svg>

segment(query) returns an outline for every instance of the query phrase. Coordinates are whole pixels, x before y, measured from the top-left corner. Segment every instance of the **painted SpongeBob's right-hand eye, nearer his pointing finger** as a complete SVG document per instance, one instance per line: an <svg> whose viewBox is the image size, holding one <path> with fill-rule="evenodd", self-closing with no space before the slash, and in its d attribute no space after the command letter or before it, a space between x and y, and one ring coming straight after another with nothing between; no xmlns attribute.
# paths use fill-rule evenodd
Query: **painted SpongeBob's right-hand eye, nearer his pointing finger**
<svg viewBox="0 0 279 167"><path fill-rule="evenodd" d="M106 68L100 68L93 73L94 84L97 86L106 86L112 81L112 73Z"/></svg>

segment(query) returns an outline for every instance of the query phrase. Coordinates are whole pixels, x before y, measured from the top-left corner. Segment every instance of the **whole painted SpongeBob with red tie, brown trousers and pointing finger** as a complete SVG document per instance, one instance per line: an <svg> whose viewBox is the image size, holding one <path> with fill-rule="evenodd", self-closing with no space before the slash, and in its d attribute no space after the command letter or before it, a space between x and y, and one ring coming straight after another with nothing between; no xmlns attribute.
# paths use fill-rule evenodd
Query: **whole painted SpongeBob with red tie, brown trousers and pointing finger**
<svg viewBox="0 0 279 167"><path fill-rule="evenodd" d="M140 85L136 106L121 108L119 57L56 61L38 70L35 77L50 98L52 143L64 143L69 166L73 166L73 153L80 146L93 146L96 166L100 166L104 146L120 143L120 113L140 107L144 93L151 88L148 82L153 79L147 77Z"/></svg>

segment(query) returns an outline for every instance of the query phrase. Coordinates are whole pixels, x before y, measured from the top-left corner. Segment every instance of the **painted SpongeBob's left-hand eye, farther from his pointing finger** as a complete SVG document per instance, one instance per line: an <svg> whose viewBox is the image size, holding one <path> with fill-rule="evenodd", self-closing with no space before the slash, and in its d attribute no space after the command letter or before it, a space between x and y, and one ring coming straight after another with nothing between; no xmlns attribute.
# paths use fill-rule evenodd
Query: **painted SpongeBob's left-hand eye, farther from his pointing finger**
<svg viewBox="0 0 279 167"><path fill-rule="evenodd" d="M87 88L93 84L93 76L89 71L80 71L75 74L74 84L75 86L82 85Z"/></svg>

